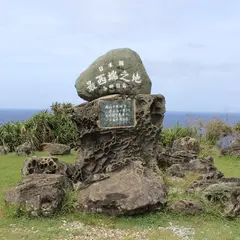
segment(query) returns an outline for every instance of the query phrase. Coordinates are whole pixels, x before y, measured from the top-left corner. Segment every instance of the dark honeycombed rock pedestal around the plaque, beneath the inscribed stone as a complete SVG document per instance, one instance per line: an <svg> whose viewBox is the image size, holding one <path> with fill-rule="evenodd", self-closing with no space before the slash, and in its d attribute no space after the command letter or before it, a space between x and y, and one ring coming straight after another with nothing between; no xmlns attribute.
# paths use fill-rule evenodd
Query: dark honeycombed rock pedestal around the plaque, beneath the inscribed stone
<svg viewBox="0 0 240 240"><path fill-rule="evenodd" d="M124 99L109 96L105 100ZM162 95L126 96L135 101L136 124L124 128L99 127L99 102L101 99L81 104L72 109L79 139L76 181L87 181L96 174L107 174L122 169L133 160L144 166L158 169L159 137L165 113Z"/></svg>

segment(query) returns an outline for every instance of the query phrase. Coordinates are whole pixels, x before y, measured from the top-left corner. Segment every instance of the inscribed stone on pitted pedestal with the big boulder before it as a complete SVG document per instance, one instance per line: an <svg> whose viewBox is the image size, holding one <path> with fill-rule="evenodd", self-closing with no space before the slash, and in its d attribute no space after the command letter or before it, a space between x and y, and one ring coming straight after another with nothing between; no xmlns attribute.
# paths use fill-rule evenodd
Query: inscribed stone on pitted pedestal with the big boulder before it
<svg viewBox="0 0 240 240"><path fill-rule="evenodd" d="M166 189L157 166L164 96L151 95L139 55L115 49L76 80L85 102L72 109L79 133L74 182L81 209L110 215L163 208Z"/></svg>

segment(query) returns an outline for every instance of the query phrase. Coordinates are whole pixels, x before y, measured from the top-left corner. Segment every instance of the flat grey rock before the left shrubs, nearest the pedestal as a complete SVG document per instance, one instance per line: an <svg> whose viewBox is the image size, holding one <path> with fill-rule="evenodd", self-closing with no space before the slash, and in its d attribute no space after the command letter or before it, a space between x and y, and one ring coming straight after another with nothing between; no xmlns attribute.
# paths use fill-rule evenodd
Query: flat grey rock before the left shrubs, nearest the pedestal
<svg viewBox="0 0 240 240"><path fill-rule="evenodd" d="M42 147L44 152L51 155L69 155L71 153L71 147L65 144L43 143Z"/></svg>

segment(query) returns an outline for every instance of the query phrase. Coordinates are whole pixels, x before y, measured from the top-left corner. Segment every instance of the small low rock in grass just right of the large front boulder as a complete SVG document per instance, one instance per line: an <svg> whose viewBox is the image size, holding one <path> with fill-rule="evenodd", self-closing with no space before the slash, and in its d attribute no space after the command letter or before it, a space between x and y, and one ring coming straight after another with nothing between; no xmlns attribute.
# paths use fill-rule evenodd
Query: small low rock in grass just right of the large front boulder
<svg viewBox="0 0 240 240"><path fill-rule="evenodd" d="M193 199L181 199L172 203L168 208L172 212L181 213L184 215L197 215L204 213L202 204Z"/></svg>

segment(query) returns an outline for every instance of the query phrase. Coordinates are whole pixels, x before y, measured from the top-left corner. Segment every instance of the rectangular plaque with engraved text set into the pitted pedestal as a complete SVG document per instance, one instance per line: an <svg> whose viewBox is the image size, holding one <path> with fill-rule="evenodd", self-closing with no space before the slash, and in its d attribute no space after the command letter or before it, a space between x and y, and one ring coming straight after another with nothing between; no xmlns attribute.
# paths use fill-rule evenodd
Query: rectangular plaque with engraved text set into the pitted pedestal
<svg viewBox="0 0 240 240"><path fill-rule="evenodd" d="M124 128L135 126L134 100L102 100L99 102L99 108L100 128Z"/></svg>

